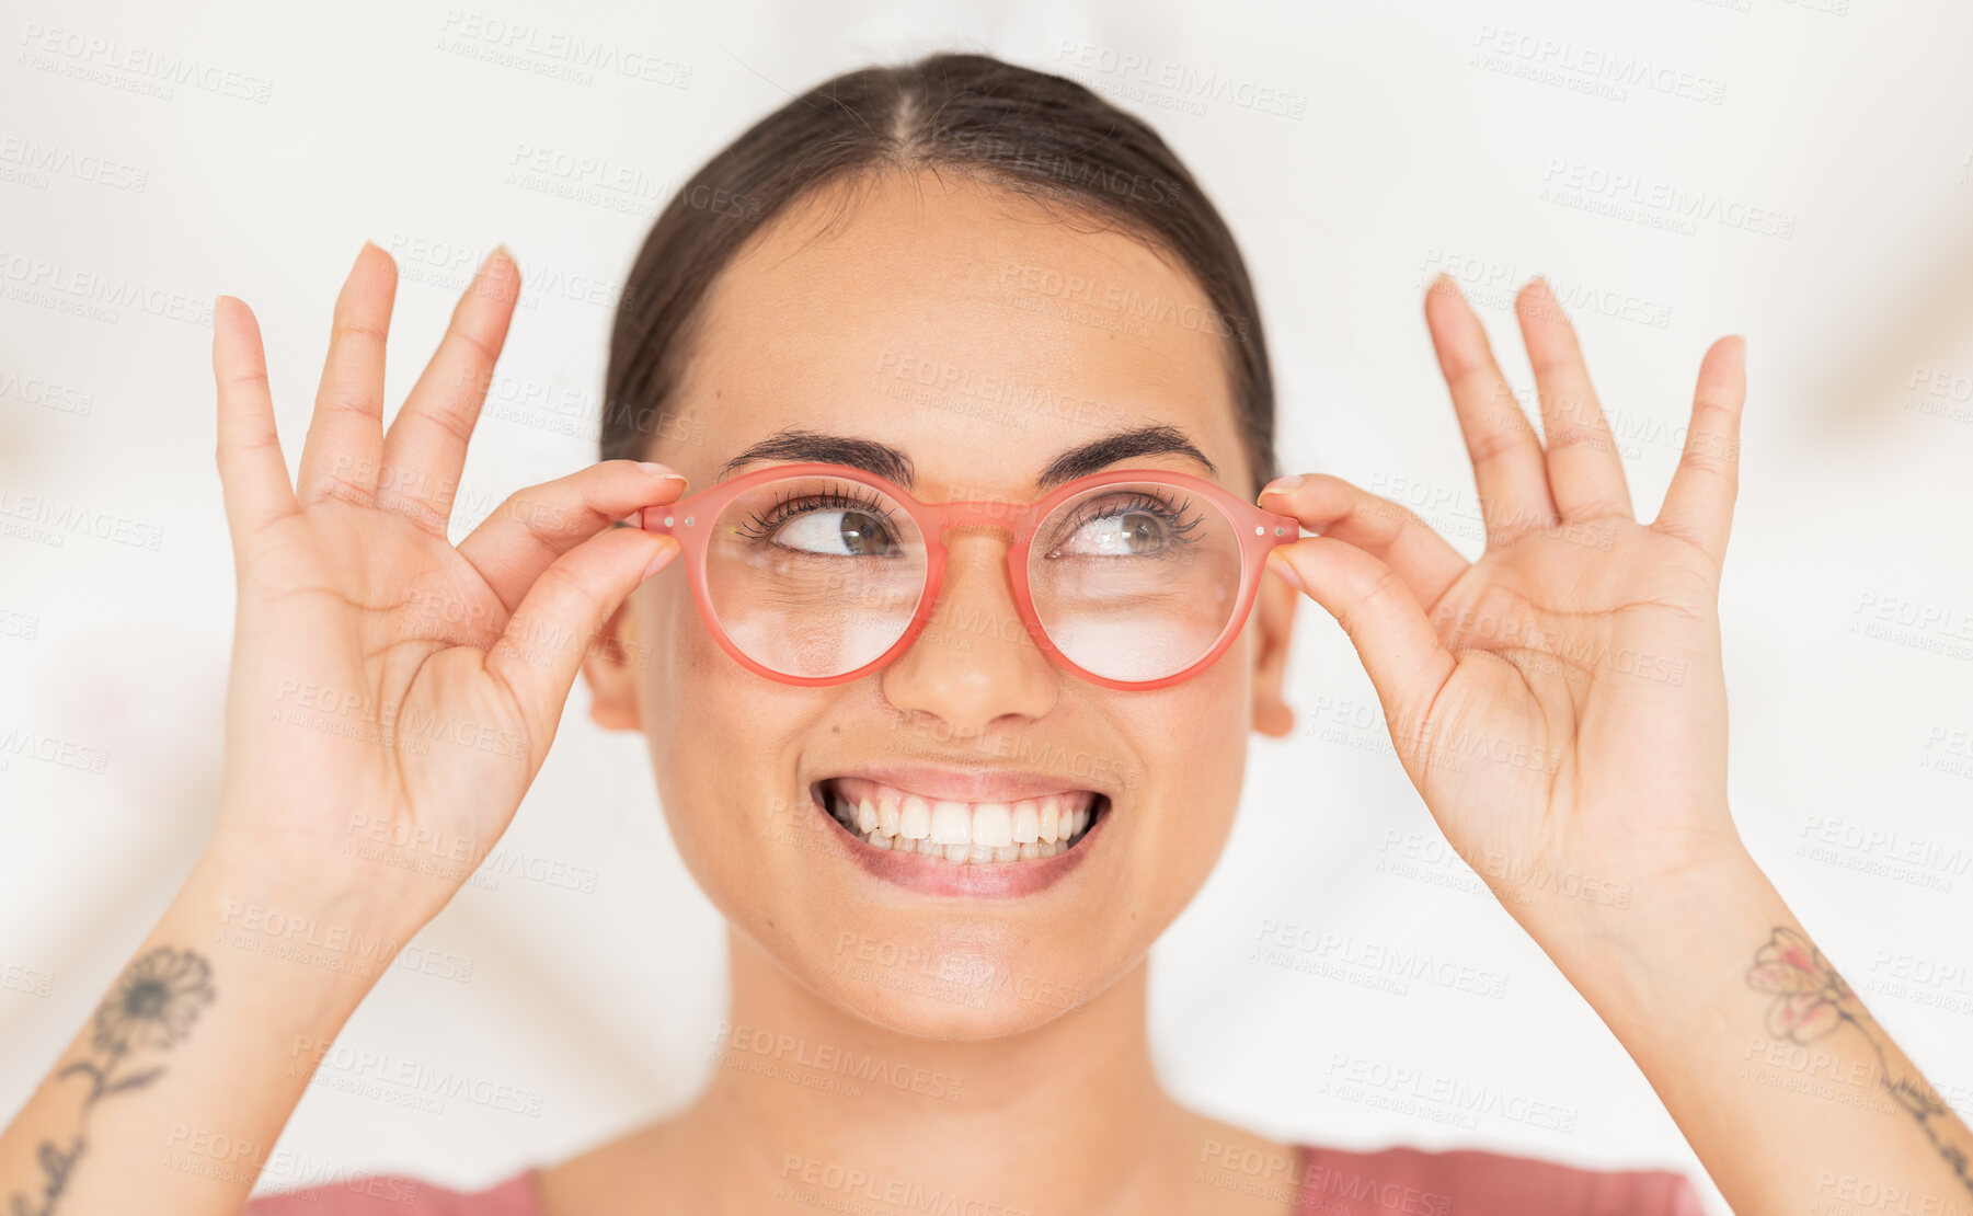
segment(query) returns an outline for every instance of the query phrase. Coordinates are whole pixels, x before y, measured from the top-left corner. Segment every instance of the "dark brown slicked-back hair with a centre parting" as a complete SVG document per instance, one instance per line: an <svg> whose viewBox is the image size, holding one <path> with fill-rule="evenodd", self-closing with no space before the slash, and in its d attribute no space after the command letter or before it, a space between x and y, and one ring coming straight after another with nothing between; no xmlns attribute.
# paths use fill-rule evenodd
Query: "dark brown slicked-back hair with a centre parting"
<svg viewBox="0 0 1973 1216"><path fill-rule="evenodd" d="M1247 266L1164 140L1075 81L986 55L931 55L817 85L756 122L665 205L610 334L602 458L645 458L693 318L732 255L797 197L884 170L935 170L1134 233L1198 278L1227 340L1255 490L1275 476L1275 381Z"/></svg>

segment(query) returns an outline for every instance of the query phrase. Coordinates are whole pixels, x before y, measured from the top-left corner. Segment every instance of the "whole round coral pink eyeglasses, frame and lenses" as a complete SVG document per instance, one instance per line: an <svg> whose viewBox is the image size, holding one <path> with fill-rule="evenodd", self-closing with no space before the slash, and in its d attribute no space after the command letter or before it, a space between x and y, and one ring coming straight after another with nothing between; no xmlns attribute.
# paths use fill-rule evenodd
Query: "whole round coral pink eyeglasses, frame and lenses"
<svg viewBox="0 0 1973 1216"><path fill-rule="evenodd" d="M949 529L1010 531L1014 606L1054 661L1109 689L1160 689L1233 644L1275 515L1202 478L1115 470L1036 503L921 503L842 464L781 464L643 509L681 545L712 638L742 667L831 685L884 667L925 628Z"/></svg>

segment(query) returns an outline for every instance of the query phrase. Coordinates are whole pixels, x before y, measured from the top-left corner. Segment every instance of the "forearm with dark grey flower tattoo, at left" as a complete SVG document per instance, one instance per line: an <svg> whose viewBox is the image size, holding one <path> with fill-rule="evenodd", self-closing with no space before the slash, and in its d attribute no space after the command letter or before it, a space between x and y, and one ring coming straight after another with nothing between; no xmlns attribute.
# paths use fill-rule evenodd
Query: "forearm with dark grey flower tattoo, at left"
<svg viewBox="0 0 1973 1216"><path fill-rule="evenodd" d="M0 1208L239 1212L318 1054L389 965L363 896L201 859L0 1133Z"/></svg>

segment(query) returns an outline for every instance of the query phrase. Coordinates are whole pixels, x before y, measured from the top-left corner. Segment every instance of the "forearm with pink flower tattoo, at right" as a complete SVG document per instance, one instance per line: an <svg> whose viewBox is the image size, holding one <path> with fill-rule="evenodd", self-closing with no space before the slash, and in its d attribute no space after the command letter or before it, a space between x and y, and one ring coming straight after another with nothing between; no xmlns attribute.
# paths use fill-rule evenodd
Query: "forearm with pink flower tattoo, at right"
<svg viewBox="0 0 1973 1216"><path fill-rule="evenodd" d="M1638 896L1624 928L1551 955L1734 1212L1973 1206L1973 1135L1811 953L1752 857L1734 851Z"/></svg>

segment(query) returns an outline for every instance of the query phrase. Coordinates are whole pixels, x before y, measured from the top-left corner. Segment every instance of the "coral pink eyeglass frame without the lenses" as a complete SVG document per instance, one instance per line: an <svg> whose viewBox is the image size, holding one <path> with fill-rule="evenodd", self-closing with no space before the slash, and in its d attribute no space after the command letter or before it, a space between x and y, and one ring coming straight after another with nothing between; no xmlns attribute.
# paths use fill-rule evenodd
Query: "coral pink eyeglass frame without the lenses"
<svg viewBox="0 0 1973 1216"><path fill-rule="evenodd" d="M862 667L840 675L787 675L785 671L775 671L754 661L726 634L726 628L720 626L718 612L712 608L712 592L706 586L706 549L710 545L708 537L712 535L712 521L718 519L728 503L732 503L732 499L742 492L764 482L779 482L783 478L837 478L842 482L870 486L872 490L878 490L898 501L912 517L912 523L917 525L917 533L925 539L925 586L917 596L917 608L912 612L912 624L906 626L904 634L890 646L890 649ZM1077 494L1121 482L1158 482L1162 486L1174 486L1188 494L1196 494L1219 507L1239 533L1241 574L1239 600L1233 606L1233 616L1227 618L1227 626L1219 634L1217 642L1213 642L1211 649L1207 649L1198 661L1184 671L1160 675L1158 679L1111 679L1079 667L1056 647L1048 630L1042 626L1042 618L1034 610L1034 598L1028 592L1028 545L1034 541L1034 531L1040 527L1042 519ZM1034 503L1014 503L1004 499L923 503L906 494L900 486L848 464L773 464L750 474L740 474L738 478L710 486L675 503L643 507L641 525L645 531L661 533L679 541L679 557L685 559L685 572L693 584L693 598L698 600L698 616L706 622L714 642L718 642L720 647L748 671L791 685L846 683L884 667L910 649L912 642L917 640L925 624L931 620L931 612L939 602L939 590L945 580L945 529L949 527L992 527L1014 533L1014 543L1008 545L1006 551L1008 580L1014 588L1014 608L1020 612L1020 620L1028 628L1028 638L1032 638L1036 647L1040 647L1050 659L1067 667L1075 675L1081 675L1089 683L1123 691L1162 689L1190 679L1209 667L1227 651L1229 646L1233 646L1233 640L1239 636L1241 628L1245 628L1247 614L1253 610L1253 598L1261 588L1261 572L1265 569L1263 563L1267 561L1267 555L1277 545L1290 545L1302 537L1300 521L1292 515L1263 511L1247 499L1204 478L1176 474L1162 468L1127 468L1089 474L1087 478L1077 478L1058 486L1048 497Z"/></svg>

